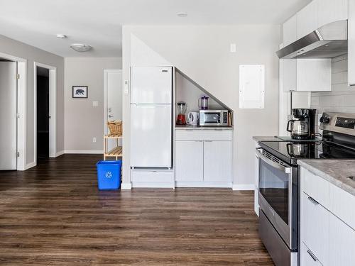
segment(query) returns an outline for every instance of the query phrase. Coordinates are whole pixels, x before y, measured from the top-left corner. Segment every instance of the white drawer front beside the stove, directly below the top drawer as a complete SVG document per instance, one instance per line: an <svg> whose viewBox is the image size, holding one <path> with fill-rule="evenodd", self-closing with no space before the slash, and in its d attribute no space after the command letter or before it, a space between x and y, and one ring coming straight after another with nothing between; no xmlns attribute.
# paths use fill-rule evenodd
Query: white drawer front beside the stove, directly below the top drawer
<svg viewBox="0 0 355 266"><path fill-rule="evenodd" d="M327 265L329 253L329 211L302 193L302 241Z"/></svg>

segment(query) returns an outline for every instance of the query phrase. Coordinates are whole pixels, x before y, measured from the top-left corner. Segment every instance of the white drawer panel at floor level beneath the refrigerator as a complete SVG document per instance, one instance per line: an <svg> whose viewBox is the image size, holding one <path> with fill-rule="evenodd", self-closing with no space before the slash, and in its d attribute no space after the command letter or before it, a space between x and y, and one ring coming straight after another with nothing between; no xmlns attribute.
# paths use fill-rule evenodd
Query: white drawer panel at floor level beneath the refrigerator
<svg viewBox="0 0 355 266"><path fill-rule="evenodd" d="M132 170L132 182L174 182L173 171Z"/></svg>

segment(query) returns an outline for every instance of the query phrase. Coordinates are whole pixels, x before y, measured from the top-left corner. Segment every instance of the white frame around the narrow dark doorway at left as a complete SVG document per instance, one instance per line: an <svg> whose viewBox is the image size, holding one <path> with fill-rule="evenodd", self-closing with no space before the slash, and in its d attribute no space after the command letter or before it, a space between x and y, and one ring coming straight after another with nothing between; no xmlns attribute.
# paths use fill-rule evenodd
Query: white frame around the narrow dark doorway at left
<svg viewBox="0 0 355 266"><path fill-rule="evenodd" d="M57 67L33 63L34 95L34 158L37 165L37 67L49 70L49 157L57 157Z"/></svg>

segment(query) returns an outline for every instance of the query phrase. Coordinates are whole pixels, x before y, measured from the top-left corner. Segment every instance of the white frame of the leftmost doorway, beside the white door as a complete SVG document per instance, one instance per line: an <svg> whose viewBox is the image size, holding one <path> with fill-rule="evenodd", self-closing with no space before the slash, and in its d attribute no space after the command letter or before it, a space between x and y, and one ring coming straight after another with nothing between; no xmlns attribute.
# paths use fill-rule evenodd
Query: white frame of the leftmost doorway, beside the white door
<svg viewBox="0 0 355 266"><path fill-rule="evenodd" d="M26 162L27 60L3 52L0 52L0 57L17 62L17 73L20 75L17 82L17 151L20 154L17 158L17 170L23 171L29 168Z"/></svg>

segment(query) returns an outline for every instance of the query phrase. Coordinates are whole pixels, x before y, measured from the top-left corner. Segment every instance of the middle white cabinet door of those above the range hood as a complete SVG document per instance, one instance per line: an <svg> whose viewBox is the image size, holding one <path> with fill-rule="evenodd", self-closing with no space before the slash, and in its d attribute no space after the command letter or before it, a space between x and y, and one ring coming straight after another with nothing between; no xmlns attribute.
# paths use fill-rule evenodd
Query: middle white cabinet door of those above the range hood
<svg viewBox="0 0 355 266"><path fill-rule="evenodd" d="M317 28L317 2L310 2L310 4L297 13L297 39L315 31Z"/></svg>

